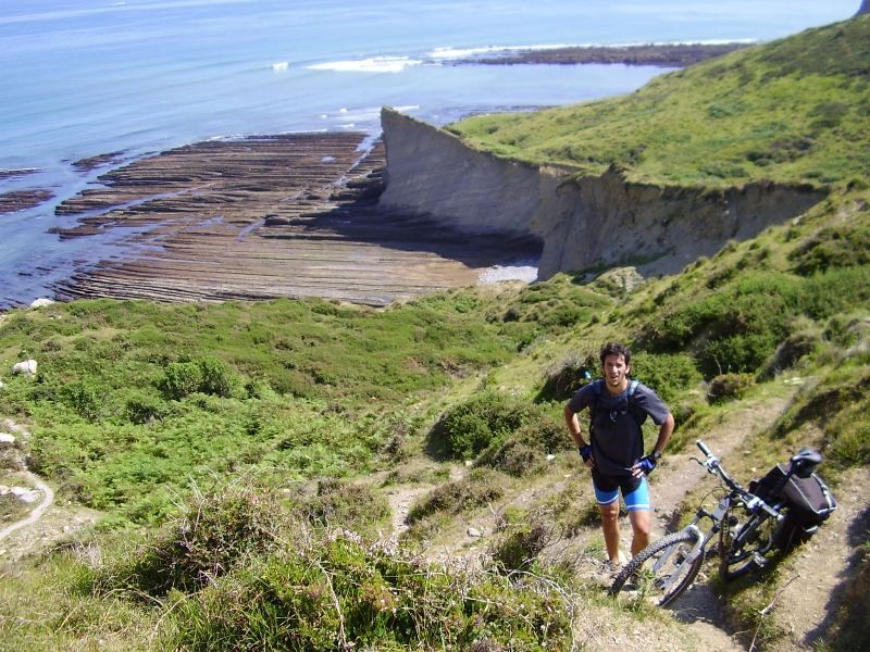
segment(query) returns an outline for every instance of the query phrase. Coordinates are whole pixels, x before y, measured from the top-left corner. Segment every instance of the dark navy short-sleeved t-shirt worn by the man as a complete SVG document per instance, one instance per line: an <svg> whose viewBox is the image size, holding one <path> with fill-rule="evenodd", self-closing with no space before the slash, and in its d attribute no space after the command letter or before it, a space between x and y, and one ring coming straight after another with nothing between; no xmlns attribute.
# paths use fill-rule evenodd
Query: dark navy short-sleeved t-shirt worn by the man
<svg viewBox="0 0 870 652"><path fill-rule="evenodd" d="M616 477L631 475L631 467L643 457L641 426L646 417L649 416L652 423L660 426L670 412L656 392L643 383L637 384L631 397L627 387L614 397L601 379L581 387L571 397L568 406L574 413L591 408L593 421L589 439L595 467L601 475Z"/></svg>

